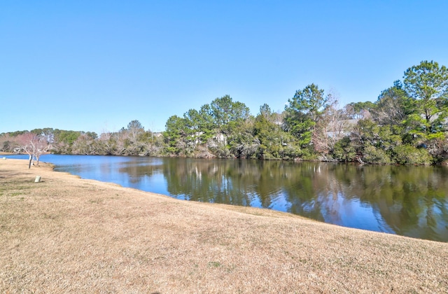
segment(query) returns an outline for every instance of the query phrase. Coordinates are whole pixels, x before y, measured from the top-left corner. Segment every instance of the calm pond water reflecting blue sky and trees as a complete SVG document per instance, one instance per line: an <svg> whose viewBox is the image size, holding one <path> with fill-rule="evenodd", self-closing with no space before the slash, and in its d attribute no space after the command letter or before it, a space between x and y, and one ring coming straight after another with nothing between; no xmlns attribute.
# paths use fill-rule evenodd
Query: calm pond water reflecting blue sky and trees
<svg viewBox="0 0 448 294"><path fill-rule="evenodd" d="M448 241L447 167L93 155L43 155L41 161L84 179L181 200L263 207L350 228Z"/></svg>

